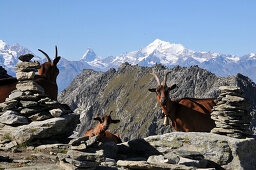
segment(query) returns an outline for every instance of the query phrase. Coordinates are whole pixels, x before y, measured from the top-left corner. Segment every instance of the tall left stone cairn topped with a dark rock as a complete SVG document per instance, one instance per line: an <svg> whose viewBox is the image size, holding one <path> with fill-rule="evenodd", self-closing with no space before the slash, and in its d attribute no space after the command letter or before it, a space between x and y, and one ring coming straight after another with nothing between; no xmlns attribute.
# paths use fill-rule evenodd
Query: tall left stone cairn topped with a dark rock
<svg viewBox="0 0 256 170"><path fill-rule="evenodd" d="M47 97L44 89L35 82L35 72L40 63L30 62L33 57L32 54L19 57L22 62L17 63L15 68L18 80L16 90L0 103L0 123L24 125L72 112L61 109L61 104Z"/></svg>

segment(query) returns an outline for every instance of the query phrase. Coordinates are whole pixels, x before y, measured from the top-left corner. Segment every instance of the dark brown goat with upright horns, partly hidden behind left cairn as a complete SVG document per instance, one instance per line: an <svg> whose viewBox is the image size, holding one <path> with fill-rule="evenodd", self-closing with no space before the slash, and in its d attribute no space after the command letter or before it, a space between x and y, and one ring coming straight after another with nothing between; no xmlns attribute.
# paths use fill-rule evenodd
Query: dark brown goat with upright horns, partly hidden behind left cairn
<svg viewBox="0 0 256 170"><path fill-rule="evenodd" d="M35 81L43 87L47 96L53 100L57 100L58 86L56 78L59 74L57 63L61 58L58 56L57 46L55 47L56 52L53 62L51 62L50 57L44 51L40 49L38 50L45 55L47 62L41 64L41 67L38 70L38 75L35 76ZM11 92L16 89L17 83L18 80L15 77L0 80L0 103L4 102Z"/></svg>

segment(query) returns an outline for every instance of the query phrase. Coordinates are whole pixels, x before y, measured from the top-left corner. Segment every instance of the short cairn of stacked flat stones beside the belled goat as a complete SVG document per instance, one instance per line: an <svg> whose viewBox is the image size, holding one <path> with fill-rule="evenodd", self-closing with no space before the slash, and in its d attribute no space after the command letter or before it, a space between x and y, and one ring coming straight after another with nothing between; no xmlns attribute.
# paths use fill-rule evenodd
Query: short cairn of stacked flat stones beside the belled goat
<svg viewBox="0 0 256 170"><path fill-rule="evenodd" d="M221 94L211 113L216 127L211 130L211 133L233 138L250 136L252 131L250 131L249 126L252 116L249 112L250 105L242 97L242 90L233 86L221 86L219 89Z"/></svg>

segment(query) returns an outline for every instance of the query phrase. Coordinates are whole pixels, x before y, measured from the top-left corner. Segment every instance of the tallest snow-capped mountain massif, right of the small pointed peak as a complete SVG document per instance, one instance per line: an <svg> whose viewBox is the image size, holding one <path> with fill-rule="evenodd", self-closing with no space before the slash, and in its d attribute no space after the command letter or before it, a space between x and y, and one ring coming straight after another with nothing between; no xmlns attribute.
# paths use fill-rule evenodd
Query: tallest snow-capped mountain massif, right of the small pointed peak
<svg viewBox="0 0 256 170"><path fill-rule="evenodd" d="M250 54L253 58L255 54ZM206 62L220 60L224 63L236 63L241 57L233 55L222 55L213 52L195 52L185 48L182 44L173 44L166 41L156 39L148 46L116 57L107 57L101 59L97 57L94 61L88 62L93 67L100 63L98 69L109 69L110 67L118 67L123 62L130 64L138 64L141 66L152 66L161 63L166 66L173 65L201 65ZM246 58L246 57L245 57ZM248 58L248 57L247 57ZM108 62L104 62L107 60ZM91 64L93 63L93 64Z"/></svg>

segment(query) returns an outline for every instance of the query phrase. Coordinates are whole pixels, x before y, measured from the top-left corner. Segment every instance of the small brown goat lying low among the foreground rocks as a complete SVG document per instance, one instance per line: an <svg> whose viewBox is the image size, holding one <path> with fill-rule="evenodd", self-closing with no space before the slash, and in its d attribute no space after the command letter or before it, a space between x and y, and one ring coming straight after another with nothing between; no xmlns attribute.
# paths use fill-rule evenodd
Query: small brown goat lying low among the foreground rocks
<svg viewBox="0 0 256 170"><path fill-rule="evenodd" d="M110 112L110 114L111 113L112 113L112 111ZM104 114L101 117L96 116L94 118L94 120L99 121L99 123L93 129L89 129L84 134L84 136L89 136L89 138L91 138L93 136L99 135L100 136L100 138L99 138L100 142L103 142L103 143L105 143L105 142L122 143L118 133L112 134L110 131L107 130L111 123L119 123L120 122L120 120L113 120L111 118L110 114Z"/></svg>

